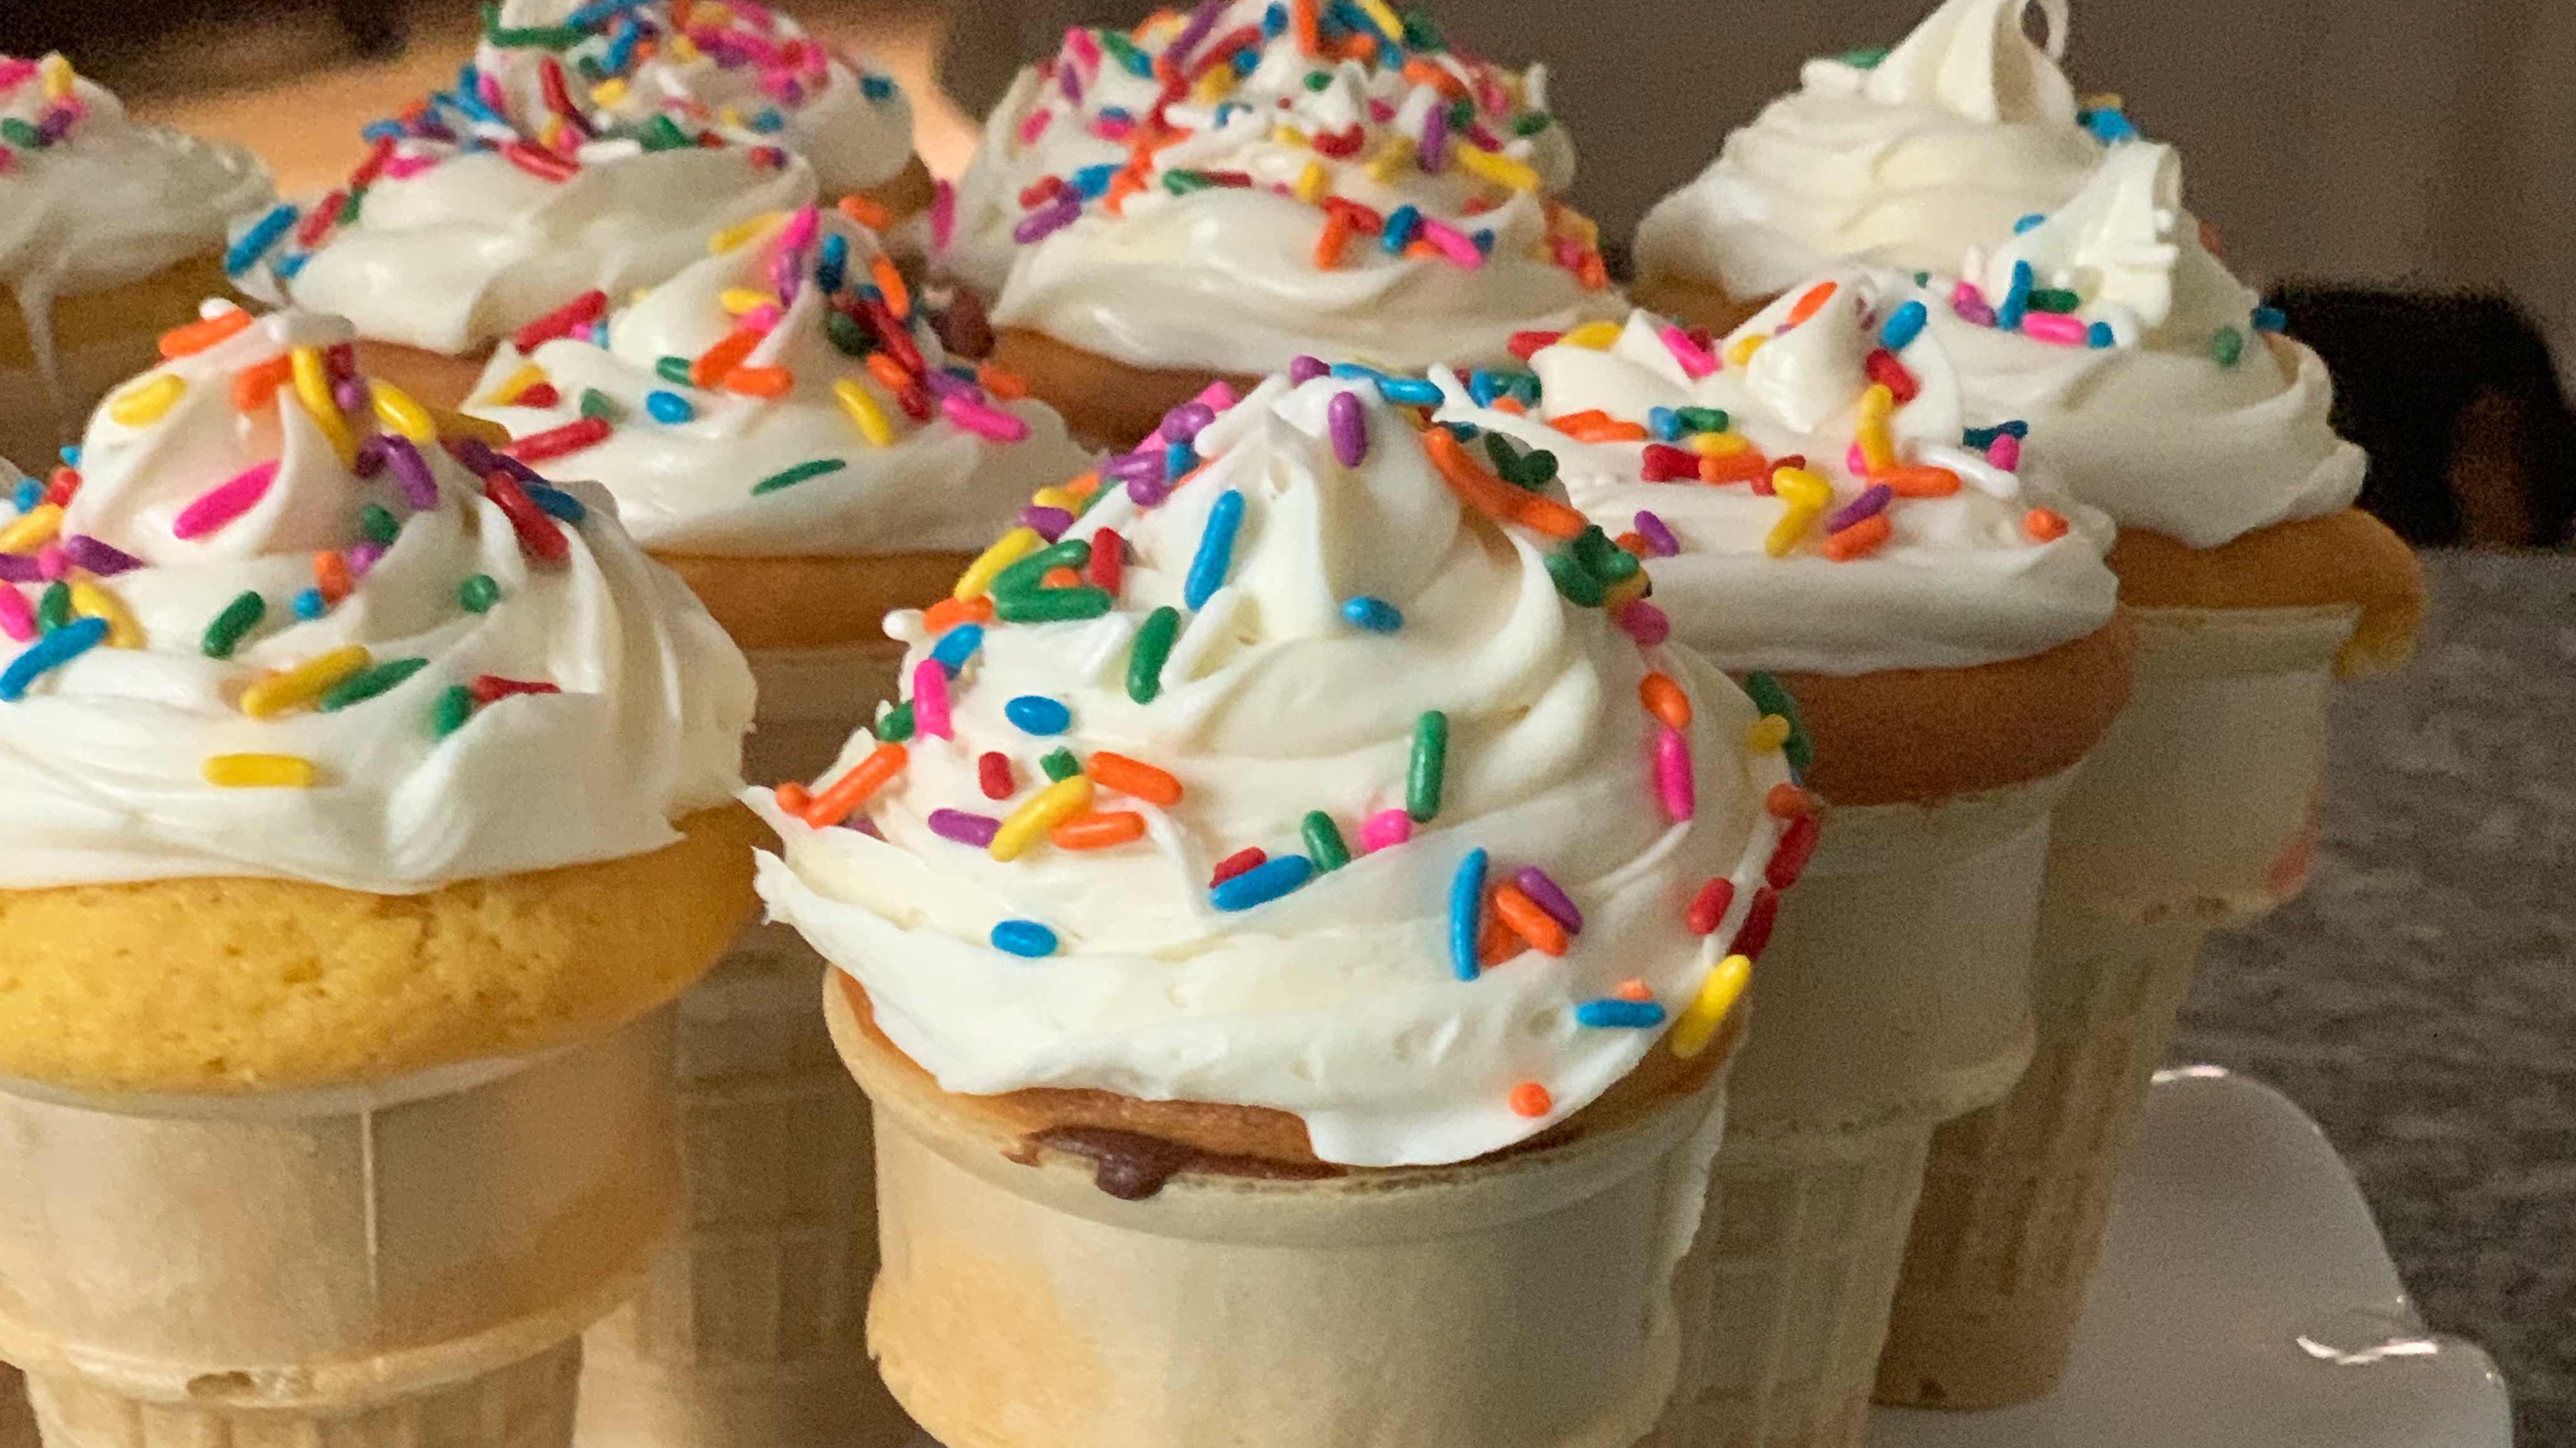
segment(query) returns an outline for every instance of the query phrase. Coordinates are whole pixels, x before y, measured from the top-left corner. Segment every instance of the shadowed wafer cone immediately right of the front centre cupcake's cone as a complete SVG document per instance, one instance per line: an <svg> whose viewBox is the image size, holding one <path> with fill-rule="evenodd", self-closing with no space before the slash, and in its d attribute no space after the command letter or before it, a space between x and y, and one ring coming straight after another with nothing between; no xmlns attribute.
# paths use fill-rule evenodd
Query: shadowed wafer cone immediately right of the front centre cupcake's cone
<svg viewBox="0 0 2576 1448"><path fill-rule="evenodd" d="M2069 776L1834 809L1754 971L1718 1157L1705 1353L1656 1448L1860 1443L1932 1129L2030 1059L2048 812Z"/></svg>

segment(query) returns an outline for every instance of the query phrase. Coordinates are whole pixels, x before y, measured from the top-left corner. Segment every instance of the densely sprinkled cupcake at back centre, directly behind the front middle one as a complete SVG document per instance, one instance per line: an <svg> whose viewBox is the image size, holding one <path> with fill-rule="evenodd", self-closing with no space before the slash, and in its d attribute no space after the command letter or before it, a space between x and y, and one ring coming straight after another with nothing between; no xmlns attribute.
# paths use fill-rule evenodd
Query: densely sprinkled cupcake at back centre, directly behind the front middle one
<svg viewBox="0 0 2576 1448"><path fill-rule="evenodd" d="M1211 0L1023 72L933 260L992 299L1005 366L1123 446L1216 376L1502 363L1517 330L1615 317L1571 180L1546 67L1383 5Z"/></svg>

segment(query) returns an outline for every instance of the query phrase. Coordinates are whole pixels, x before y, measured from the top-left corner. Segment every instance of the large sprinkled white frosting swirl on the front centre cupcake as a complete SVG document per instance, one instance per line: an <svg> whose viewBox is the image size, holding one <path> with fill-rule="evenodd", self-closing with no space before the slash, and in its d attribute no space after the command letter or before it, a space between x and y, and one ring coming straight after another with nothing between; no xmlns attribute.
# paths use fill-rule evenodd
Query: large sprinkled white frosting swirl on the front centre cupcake
<svg viewBox="0 0 2576 1448"><path fill-rule="evenodd" d="M1077 587L1005 575L981 636L889 621L912 642L907 698L878 724L902 768L868 796L891 755L860 734L814 791L752 791L786 840L760 863L773 915L868 987L945 1090L1262 1105L1365 1167L1522 1141L1667 1025L1713 1023L1741 979L1721 943L1759 948L1765 868L1814 822L1783 757L1747 739L1752 703L1659 647L1633 559L1597 531L1558 541L1582 528L1571 510L1360 379L1273 379L1213 420L1175 412L1167 441L1203 466L1110 492L1066 533L1113 598L1077 608ZM1036 544L1005 538L994 562ZM1610 611L1569 603L1605 587ZM1010 621L1033 613L1095 616ZM1641 691L1687 716L1667 729ZM1443 724L1445 765L1409 763ZM1056 750L1082 776L1051 786ZM1685 778L1674 804L1662 786ZM860 827L811 827L853 806ZM1211 886L1247 848L1265 861ZM1522 956L1546 925L1502 925L1548 889L1486 907L1476 861L1492 886L1538 868L1564 889L1579 930L1561 958Z"/></svg>

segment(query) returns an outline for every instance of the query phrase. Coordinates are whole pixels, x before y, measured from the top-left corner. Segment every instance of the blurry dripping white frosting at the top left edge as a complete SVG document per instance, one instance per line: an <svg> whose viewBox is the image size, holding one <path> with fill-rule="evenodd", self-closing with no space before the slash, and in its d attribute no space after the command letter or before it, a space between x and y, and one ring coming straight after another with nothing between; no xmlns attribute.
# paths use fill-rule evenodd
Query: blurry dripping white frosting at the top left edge
<svg viewBox="0 0 2576 1448"><path fill-rule="evenodd" d="M250 152L137 126L62 57L0 57L0 286L31 312L214 255L270 196Z"/></svg>

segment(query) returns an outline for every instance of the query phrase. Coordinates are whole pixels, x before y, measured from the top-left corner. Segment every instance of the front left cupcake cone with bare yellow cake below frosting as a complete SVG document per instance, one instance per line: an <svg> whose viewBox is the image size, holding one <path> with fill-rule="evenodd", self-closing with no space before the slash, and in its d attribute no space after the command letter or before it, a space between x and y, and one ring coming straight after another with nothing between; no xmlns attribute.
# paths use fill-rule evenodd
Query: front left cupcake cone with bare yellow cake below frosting
<svg viewBox="0 0 2576 1448"><path fill-rule="evenodd" d="M562 1448L680 1198L752 680L598 490L209 304L0 536L0 1358L49 1448Z"/></svg>

